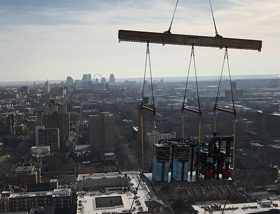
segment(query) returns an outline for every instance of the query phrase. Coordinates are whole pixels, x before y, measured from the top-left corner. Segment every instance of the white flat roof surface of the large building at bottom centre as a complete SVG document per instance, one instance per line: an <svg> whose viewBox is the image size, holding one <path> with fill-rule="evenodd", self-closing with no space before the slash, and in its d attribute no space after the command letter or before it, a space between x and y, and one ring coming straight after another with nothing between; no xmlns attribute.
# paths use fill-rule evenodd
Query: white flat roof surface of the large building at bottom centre
<svg viewBox="0 0 280 214"><path fill-rule="evenodd" d="M82 214L82 213L103 214L104 211L106 211L107 213L129 212L131 205L133 207L132 213L137 213L140 211L148 211L148 207L145 205L145 201L150 200L150 197L148 195L150 190L145 182L140 181L139 172L97 173L93 175L86 174L86 175L79 175L78 180L79 179L102 179L102 177L117 178L117 176L129 177L131 191L128 192L110 191L110 193L96 193L96 194L77 192L78 195L77 214ZM139 184L139 188L136 194L136 198L133 202L135 196L133 192L135 192L138 184ZM113 202L110 203L110 200ZM103 205L98 205L98 201L103 201ZM104 204L108 204L108 205L104 205Z"/></svg>

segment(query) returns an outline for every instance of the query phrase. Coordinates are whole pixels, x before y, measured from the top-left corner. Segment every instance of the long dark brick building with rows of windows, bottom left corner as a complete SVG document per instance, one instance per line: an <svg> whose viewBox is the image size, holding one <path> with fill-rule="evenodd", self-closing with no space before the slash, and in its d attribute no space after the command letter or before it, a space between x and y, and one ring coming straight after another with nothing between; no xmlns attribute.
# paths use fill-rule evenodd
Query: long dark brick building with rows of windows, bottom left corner
<svg viewBox="0 0 280 214"><path fill-rule="evenodd" d="M30 211L32 207L53 205L55 209L70 208L71 188L53 191L13 193L9 197L10 212Z"/></svg>

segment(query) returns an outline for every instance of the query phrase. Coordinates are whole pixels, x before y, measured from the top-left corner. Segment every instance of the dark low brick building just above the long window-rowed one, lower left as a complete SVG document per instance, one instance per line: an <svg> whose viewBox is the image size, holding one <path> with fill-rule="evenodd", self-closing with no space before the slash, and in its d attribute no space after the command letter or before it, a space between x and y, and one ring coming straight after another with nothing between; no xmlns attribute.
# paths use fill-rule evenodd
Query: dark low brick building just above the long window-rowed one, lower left
<svg viewBox="0 0 280 214"><path fill-rule="evenodd" d="M10 174L6 175L6 183L13 185L21 185L29 183L41 182L41 169L35 166L19 166L16 170L13 170Z"/></svg>

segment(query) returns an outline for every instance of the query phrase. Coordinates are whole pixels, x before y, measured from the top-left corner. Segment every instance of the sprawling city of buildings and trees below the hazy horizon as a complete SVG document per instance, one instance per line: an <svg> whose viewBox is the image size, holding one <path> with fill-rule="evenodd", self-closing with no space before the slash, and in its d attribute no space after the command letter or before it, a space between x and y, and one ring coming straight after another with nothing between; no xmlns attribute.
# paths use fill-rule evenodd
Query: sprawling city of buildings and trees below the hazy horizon
<svg viewBox="0 0 280 214"><path fill-rule="evenodd" d="M225 203L231 211L278 210L278 79L225 78L218 96L218 81L198 82L201 134L200 117L185 112L182 137L186 83L154 81L152 93L148 81L143 90L114 74L98 77L2 87L2 213L220 213ZM219 108L233 108L231 84L236 118L217 111L214 124L217 97ZM151 108L154 94L155 116L141 110L142 91ZM186 94L186 106L197 109L195 81Z"/></svg>

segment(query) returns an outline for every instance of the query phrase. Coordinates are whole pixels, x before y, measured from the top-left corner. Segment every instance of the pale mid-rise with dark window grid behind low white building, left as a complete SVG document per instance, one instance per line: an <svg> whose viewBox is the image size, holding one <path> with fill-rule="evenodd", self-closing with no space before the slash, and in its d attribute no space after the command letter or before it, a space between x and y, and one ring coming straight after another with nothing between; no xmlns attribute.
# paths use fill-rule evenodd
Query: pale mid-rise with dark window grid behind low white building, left
<svg viewBox="0 0 280 214"><path fill-rule="evenodd" d="M60 150L59 128L45 128L44 126L36 126L35 139L36 147L49 146L50 152L58 152ZM40 151L36 150L36 152L41 153L42 149L40 149Z"/></svg>

